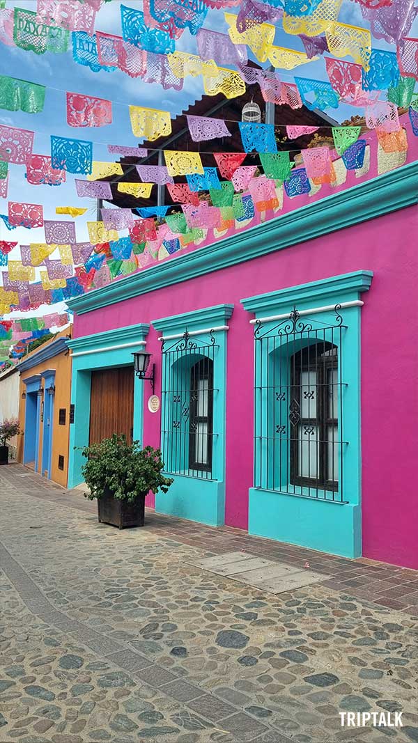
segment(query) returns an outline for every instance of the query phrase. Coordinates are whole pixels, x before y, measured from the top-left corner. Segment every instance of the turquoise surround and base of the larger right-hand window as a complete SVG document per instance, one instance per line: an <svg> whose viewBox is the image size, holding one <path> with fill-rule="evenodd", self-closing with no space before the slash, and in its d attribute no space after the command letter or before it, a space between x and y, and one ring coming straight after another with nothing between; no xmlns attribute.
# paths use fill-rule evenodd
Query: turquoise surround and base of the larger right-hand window
<svg viewBox="0 0 418 743"><path fill-rule="evenodd" d="M361 270L353 273L332 276L324 281L310 282L309 284L289 287L280 291L261 294L248 299L242 299L245 310L262 317L290 313L293 308L298 311L314 309L328 305L344 304L359 299L361 293L370 288L373 272ZM264 343L260 345L256 356L254 369L255 376L255 409L254 409L254 436L258 445L254 449L254 481L260 487L252 487L249 492L248 531L259 536L277 539L280 542L305 545L324 552L341 554L345 557L359 557L361 555L361 421L360 421L360 307L341 309L343 317L341 331L336 322L335 312L306 314L301 318L303 323L309 322L312 328L332 327L334 331L324 331L321 339L329 340L338 347L338 364L341 366L341 380L343 386L343 421L342 421L342 461L338 481L343 485L344 504L336 504L331 500L309 499L289 495L289 467L280 470L280 482L276 480L276 473L267 473L266 441L271 436L267 431L266 415L263 410L272 404L268 398L267 388L268 369L273 364L282 384L286 386L289 379L289 358L295 352L294 345L286 355L286 346L282 345L280 356L275 355L274 345ZM269 320L263 322L263 334L273 331L285 320ZM277 331L276 331L277 334ZM305 343L307 341L305 340ZM254 340L254 343L261 343ZM267 390L267 391L266 391ZM280 420L287 420L289 415L289 400L283 400L283 415ZM339 406L339 402L338 402ZM341 434L341 421L338 423L338 438ZM289 460L289 447L285 437L277 444L277 461ZM342 466L342 478L341 478ZM278 475L277 475L278 477ZM274 490L271 488L274 481ZM328 496L327 496L328 497ZM331 497L331 494L329 494Z"/></svg>

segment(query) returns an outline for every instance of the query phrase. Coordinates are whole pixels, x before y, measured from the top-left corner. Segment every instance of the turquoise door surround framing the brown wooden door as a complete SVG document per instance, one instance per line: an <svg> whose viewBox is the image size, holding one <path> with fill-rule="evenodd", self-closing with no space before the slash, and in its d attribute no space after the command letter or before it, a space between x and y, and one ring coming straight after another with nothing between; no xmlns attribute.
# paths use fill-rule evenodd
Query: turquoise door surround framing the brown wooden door
<svg viewBox="0 0 418 743"><path fill-rule="evenodd" d="M74 405L74 424L70 425L68 488L83 482L83 457L78 447L89 444L91 371L111 369L114 366L133 366L132 354L135 348L144 348L144 345L138 344L145 340L148 331L149 325L141 323L68 342L73 354L71 404ZM143 435L143 422L144 381L135 377L133 437L139 441Z"/></svg>

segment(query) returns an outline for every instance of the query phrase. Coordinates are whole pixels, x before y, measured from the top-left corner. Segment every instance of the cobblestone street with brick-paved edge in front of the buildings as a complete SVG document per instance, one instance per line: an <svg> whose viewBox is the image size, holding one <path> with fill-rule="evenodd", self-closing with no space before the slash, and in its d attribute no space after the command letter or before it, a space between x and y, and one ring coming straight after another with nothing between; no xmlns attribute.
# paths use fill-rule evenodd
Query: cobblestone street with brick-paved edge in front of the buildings
<svg viewBox="0 0 418 743"><path fill-rule="evenodd" d="M414 571L152 512L118 531L19 465L0 506L0 743L418 742ZM241 549L324 581L273 595L191 564Z"/></svg>

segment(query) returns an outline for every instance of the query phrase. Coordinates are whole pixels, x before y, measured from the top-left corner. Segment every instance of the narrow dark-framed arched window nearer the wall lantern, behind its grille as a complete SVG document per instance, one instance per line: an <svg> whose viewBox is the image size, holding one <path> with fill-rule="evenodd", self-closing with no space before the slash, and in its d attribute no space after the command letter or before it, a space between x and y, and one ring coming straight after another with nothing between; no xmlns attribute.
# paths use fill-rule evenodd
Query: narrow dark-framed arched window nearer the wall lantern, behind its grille
<svg viewBox="0 0 418 743"><path fill-rule="evenodd" d="M212 440L213 361L205 356L190 369L190 470L211 472Z"/></svg>

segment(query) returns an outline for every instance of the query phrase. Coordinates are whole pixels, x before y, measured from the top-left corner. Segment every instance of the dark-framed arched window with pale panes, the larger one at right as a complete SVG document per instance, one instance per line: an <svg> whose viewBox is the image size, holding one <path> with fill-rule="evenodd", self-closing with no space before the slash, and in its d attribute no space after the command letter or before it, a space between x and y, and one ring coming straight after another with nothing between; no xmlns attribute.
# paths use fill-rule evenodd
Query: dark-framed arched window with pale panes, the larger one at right
<svg viewBox="0 0 418 743"><path fill-rule="evenodd" d="M321 341L290 357L290 481L338 490L338 348Z"/></svg>

